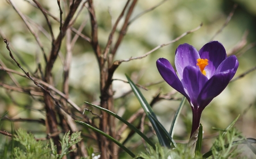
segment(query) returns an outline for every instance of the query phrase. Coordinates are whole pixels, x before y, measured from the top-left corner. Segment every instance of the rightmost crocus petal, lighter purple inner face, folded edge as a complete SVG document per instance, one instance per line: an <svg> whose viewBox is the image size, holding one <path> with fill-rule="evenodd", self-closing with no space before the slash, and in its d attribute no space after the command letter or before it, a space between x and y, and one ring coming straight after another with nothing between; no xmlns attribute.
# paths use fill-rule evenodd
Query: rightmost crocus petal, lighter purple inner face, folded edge
<svg viewBox="0 0 256 159"><path fill-rule="evenodd" d="M220 74L220 73L230 71L230 79L229 80L231 80L237 72L238 65L239 65L239 63L238 63L237 57L235 55L232 55L221 62L220 66L218 66L215 74Z"/></svg>

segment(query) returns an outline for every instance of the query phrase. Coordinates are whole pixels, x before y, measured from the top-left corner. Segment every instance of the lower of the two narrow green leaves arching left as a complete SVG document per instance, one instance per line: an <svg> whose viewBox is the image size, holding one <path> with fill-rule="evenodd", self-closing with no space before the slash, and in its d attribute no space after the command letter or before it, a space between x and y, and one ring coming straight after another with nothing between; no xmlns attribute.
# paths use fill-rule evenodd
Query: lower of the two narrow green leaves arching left
<svg viewBox="0 0 256 159"><path fill-rule="evenodd" d="M131 157L135 157L135 154L133 152L131 152L129 149L127 149L124 145L122 145L121 143L119 143L119 141L115 140L112 136L106 134L105 132L98 130L97 128L90 126L89 124L85 123L85 122L81 122L81 121L75 121L77 123L80 123L90 129L92 129L93 131L98 132L99 134L107 137L109 140L113 141L115 144L117 144L119 147L121 147L124 151L126 151L128 154L130 154Z"/></svg>

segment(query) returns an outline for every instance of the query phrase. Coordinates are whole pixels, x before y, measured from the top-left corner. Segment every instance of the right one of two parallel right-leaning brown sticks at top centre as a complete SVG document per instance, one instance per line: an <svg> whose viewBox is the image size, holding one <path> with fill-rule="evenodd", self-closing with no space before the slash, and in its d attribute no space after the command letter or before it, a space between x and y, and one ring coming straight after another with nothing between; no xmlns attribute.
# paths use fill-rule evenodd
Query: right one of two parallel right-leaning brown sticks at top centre
<svg viewBox="0 0 256 159"><path fill-rule="evenodd" d="M137 0L133 0L133 2L131 3L131 6L127 12L126 18L125 18L125 22L123 22L123 26L121 31L119 32L119 37L117 42L115 42L115 46L113 48L113 50L111 51L111 54L113 57L115 57L115 53L117 52L117 49L119 48L119 45L121 44L121 41L123 40L123 37L126 35L126 31L127 31L127 27L128 27L128 22L131 16L131 13L134 10L134 6L136 5Z"/></svg>

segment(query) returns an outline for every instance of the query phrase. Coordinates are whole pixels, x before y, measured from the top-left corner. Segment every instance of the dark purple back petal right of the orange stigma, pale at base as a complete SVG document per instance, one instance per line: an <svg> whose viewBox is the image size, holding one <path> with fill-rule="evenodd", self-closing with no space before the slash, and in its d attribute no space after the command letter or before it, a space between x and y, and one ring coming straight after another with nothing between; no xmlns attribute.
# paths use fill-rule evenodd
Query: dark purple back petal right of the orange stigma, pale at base
<svg viewBox="0 0 256 159"><path fill-rule="evenodd" d="M211 41L199 50L200 58L208 59L208 66L205 67L206 76L210 79L217 67L226 59L226 50L218 41Z"/></svg>

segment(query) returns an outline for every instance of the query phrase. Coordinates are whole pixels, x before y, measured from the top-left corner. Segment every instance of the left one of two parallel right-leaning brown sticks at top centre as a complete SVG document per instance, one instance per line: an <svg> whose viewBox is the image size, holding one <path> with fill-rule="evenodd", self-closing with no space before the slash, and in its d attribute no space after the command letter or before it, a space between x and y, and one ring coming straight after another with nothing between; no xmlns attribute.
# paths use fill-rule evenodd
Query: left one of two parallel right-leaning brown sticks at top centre
<svg viewBox="0 0 256 159"><path fill-rule="evenodd" d="M127 0L125 7L123 7L123 10L122 10L121 14L118 16L118 18L115 21L115 24L114 24L114 26L112 28L112 31L109 34L109 40L108 40L108 42L107 42L107 44L105 46L105 50L103 51L105 59L106 59L106 57L107 57L107 55L109 53L109 49L110 49L110 46L112 44L113 35L115 33L115 30L117 29L117 25L119 24L120 20L122 19L123 15L125 14L125 10L126 10L127 6L129 5L129 2L130 2L130 0Z"/></svg>

